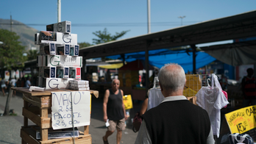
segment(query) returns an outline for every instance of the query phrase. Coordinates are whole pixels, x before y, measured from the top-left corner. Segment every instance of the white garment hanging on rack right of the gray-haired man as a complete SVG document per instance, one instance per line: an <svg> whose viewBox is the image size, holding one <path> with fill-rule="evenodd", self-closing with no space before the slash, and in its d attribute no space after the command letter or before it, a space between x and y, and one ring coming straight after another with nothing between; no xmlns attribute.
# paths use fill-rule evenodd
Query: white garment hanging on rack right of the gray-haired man
<svg viewBox="0 0 256 144"><path fill-rule="evenodd" d="M211 86L208 84L207 87L202 87L196 94L196 104L208 112L213 134L218 137L221 125L220 110L229 104L229 102L222 92L221 84L218 82L218 77L214 73L212 74L211 81Z"/></svg>

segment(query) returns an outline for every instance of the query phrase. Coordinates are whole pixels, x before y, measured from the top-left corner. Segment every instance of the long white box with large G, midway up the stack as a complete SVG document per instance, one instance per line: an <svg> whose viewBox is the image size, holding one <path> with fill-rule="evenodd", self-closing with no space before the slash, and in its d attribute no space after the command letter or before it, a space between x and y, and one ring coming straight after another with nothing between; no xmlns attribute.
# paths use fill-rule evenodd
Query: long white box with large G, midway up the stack
<svg viewBox="0 0 256 144"><path fill-rule="evenodd" d="M82 67L82 57L72 57L64 55L45 55L42 58L43 66L63 66L63 67ZM40 59L38 59L40 62Z"/></svg>

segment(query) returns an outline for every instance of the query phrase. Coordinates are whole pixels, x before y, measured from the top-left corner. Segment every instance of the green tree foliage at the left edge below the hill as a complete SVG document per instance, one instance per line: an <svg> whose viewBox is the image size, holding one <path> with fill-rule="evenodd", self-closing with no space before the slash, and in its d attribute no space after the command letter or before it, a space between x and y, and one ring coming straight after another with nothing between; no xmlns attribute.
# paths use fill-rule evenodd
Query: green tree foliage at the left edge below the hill
<svg viewBox="0 0 256 144"><path fill-rule="evenodd" d="M19 36L7 29L0 29L0 67L11 70L12 67L24 67L26 57L23 56L24 46L18 41Z"/></svg>

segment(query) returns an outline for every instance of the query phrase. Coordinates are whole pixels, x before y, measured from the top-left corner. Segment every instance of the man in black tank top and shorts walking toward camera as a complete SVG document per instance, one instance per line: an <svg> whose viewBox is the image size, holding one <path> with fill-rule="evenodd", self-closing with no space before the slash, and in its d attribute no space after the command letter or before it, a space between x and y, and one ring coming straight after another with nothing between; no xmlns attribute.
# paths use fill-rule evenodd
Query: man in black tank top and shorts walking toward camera
<svg viewBox="0 0 256 144"><path fill-rule="evenodd" d="M107 137L109 137L115 129L117 129L116 143L120 144L122 131L125 129L125 120L127 120L127 115L124 108L123 90L119 89L120 81L118 79L113 79L112 88L106 90L103 100L103 119L110 126L107 126L107 132L102 137L104 144L108 144Z"/></svg>

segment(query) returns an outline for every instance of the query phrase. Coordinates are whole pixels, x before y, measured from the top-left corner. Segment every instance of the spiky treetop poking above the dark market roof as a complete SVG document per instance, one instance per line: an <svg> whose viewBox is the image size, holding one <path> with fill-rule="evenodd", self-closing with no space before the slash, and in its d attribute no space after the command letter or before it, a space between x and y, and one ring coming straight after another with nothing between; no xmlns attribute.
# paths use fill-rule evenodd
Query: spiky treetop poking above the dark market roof
<svg viewBox="0 0 256 144"><path fill-rule="evenodd" d="M93 38L93 43L99 44L99 43L107 43L113 40L117 40L119 37L124 36L129 30L122 31L120 33L115 32L115 35L110 35L109 32L107 32L107 28L105 28L103 31L96 31L93 32L93 35L96 35L99 37L99 39Z"/></svg>

